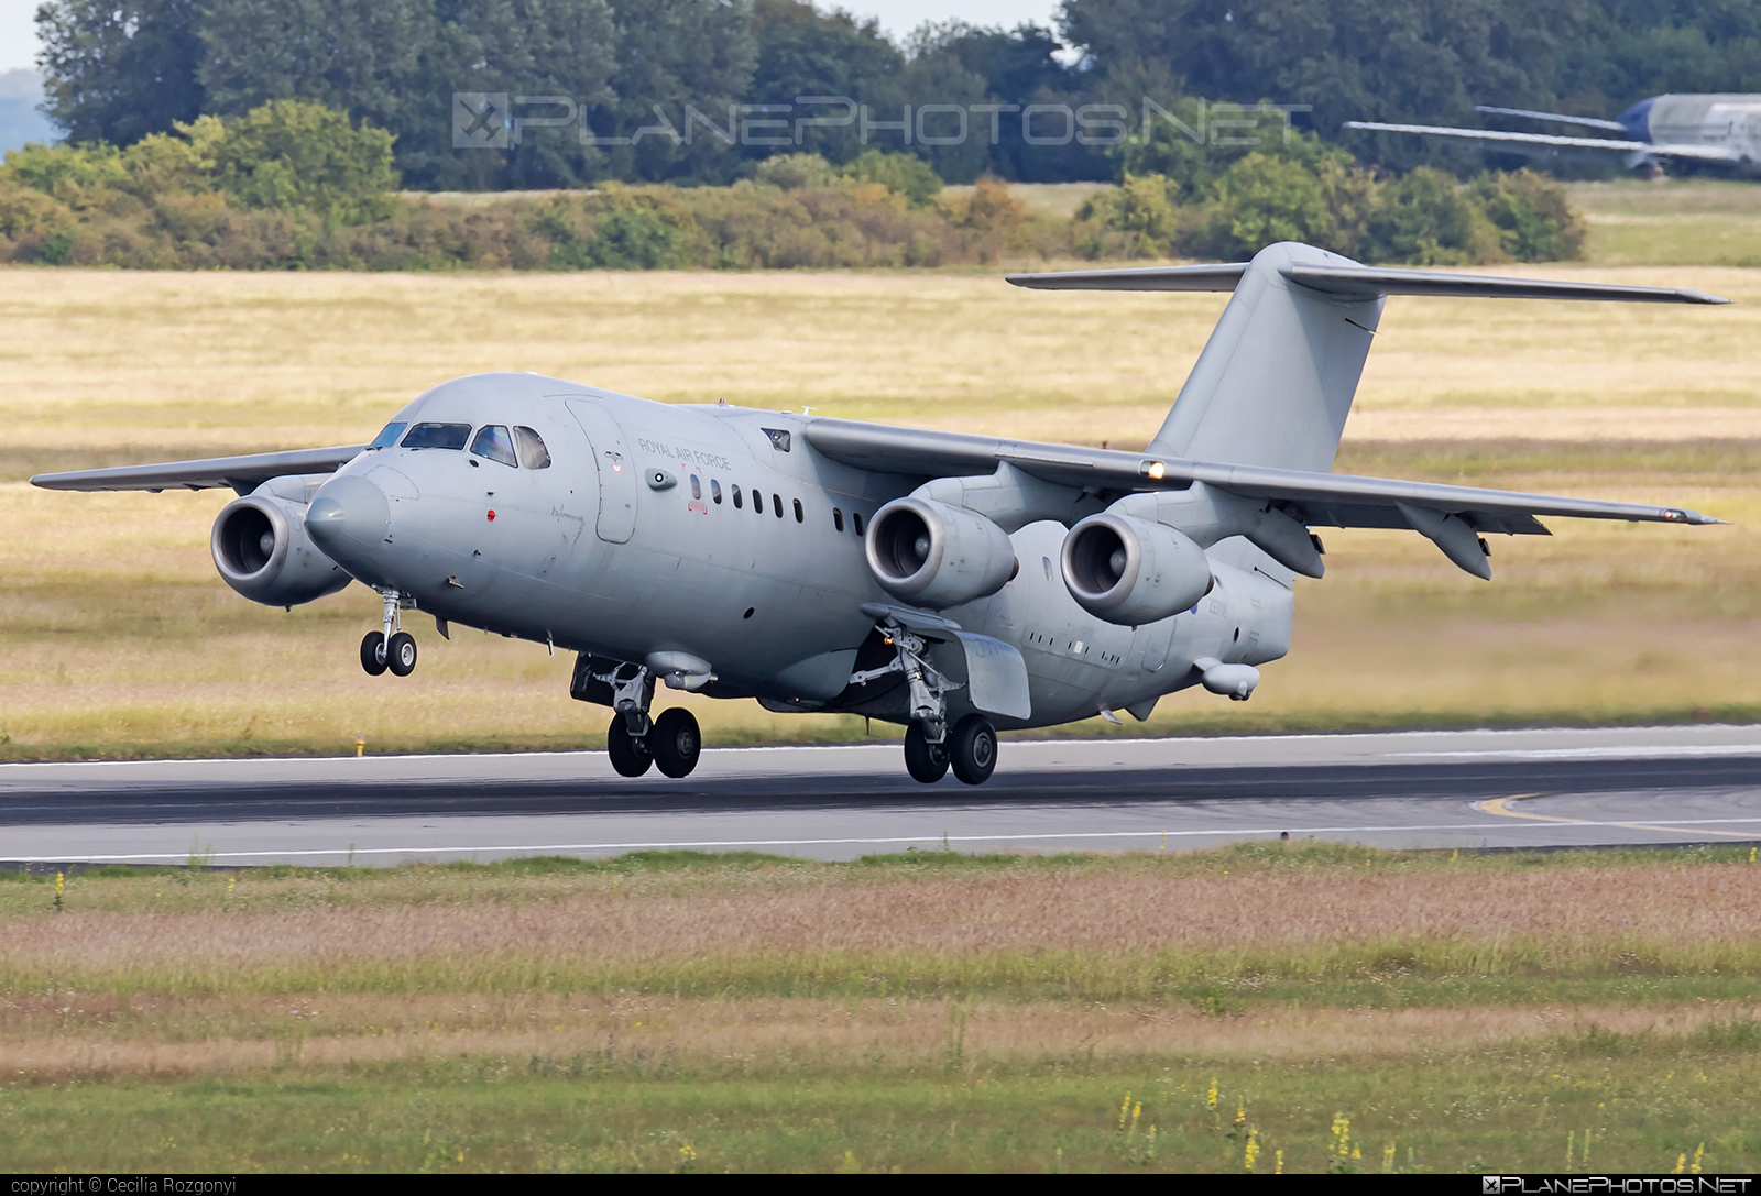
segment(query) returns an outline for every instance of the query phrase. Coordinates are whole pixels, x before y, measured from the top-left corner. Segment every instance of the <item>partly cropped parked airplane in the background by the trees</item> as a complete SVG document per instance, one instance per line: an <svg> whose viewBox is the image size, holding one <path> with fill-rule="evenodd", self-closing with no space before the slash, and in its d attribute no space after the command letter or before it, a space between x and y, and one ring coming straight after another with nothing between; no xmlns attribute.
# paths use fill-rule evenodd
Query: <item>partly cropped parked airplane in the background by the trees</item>
<svg viewBox="0 0 1761 1196"><path fill-rule="evenodd" d="M1627 169L1661 171L1673 166L1687 171L1713 171L1742 178L1761 176L1761 95L1654 95L1639 100L1615 120L1534 113L1525 107L1477 106L1476 113L1518 116L1560 125L1595 129L1618 137L1567 137L1544 132L1500 132L1495 129L1453 129L1444 125L1384 125L1349 120L1345 129L1367 132L1412 132L1430 137L1470 141L1486 150L1522 153L1537 159L1576 159L1618 162Z"/></svg>

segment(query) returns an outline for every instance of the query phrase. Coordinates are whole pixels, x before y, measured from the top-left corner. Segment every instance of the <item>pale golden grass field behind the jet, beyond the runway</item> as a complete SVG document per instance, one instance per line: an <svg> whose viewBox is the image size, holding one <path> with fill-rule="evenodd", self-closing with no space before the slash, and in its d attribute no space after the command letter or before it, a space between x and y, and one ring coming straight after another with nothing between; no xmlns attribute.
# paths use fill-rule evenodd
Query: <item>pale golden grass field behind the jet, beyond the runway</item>
<svg viewBox="0 0 1761 1196"><path fill-rule="evenodd" d="M1650 194L1650 192L1647 192ZM1395 299L1340 469L1692 506L1735 527L1557 521L1493 543L1497 580L1425 541L1326 532L1296 646L1205 729L1749 717L1761 273L1546 268L1696 285L1728 308ZM567 657L416 620L409 682L368 678L361 588L291 615L227 590L227 493L67 495L37 470L345 444L423 388L539 370L1035 439L1141 444L1222 296L1037 294L993 273L122 275L0 271L0 754L597 745ZM1446 668L1440 668L1446 666ZM699 703L715 742L847 738L856 720ZM1104 724L1079 724L1099 733Z"/></svg>

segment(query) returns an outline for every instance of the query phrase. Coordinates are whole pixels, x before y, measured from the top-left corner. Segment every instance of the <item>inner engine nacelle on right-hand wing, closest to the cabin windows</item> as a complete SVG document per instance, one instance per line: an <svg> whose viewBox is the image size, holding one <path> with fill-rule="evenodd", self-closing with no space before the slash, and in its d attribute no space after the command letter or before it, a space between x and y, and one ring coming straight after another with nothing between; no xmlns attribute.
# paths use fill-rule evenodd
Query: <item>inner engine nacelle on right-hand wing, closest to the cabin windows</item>
<svg viewBox="0 0 1761 1196"><path fill-rule="evenodd" d="M895 498L875 511L863 548L888 594L932 609L991 595L1020 567L1007 532L933 498Z"/></svg>

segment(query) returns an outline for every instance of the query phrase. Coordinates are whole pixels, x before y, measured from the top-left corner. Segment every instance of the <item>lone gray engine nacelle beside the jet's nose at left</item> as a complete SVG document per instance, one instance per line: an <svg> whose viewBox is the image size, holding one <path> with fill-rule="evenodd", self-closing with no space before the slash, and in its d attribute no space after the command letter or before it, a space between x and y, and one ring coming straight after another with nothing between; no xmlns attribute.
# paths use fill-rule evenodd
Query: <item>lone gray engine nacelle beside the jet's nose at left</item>
<svg viewBox="0 0 1761 1196"><path fill-rule="evenodd" d="M264 606L299 606L335 594L350 578L306 537L306 509L271 493L229 502L208 548L220 578Z"/></svg>

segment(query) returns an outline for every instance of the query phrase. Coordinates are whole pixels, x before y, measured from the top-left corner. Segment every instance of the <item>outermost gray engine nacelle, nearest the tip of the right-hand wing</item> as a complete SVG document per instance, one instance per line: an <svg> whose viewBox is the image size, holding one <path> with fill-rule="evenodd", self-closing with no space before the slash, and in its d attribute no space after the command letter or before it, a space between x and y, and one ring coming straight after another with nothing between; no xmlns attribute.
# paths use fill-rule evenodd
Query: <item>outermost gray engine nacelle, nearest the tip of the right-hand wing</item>
<svg viewBox="0 0 1761 1196"><path fill-rule="evenodd" d="M1210 560L1164 523L1101 513L1064 537L1064 585L1095 618L1122 627L1153 624L1210 594Z"/></svg>

